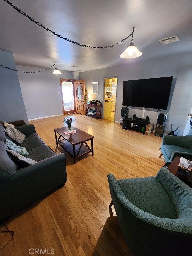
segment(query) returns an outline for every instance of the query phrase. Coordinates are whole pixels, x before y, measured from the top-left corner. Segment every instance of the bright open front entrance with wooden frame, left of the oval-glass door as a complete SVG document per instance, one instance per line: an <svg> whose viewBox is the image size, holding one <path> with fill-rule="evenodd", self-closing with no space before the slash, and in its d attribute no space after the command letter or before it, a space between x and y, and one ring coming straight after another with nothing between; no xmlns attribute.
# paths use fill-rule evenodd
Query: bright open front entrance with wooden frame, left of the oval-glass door
<svg viewBox="0 0 192 256"><path fill-rule="evenodd" d="M63 114L76 113L74 97L74 80L60 79Z"/></svg>

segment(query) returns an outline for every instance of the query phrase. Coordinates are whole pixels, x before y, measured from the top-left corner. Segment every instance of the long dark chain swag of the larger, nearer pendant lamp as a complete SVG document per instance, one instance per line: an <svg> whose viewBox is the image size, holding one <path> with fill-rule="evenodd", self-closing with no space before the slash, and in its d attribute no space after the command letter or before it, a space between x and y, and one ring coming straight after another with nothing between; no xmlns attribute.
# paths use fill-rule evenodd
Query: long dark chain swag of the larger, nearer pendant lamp
<svg viewBox="0 0 192 256"><path fill-rule="evenodd" d="M134 32L134 28L133 28L133 32L127 36L126 38L122 39L121 41L117 42L116 44L113 44L113 45L108 45L108 46L90 46L90 45L84 45L84 44L80 44L78 42L75 42L75 41L72 41L71 39L68 39L68 38L64 38L63 36L61 35L58 35L56 32L44 27L40 22L38 21L35 21L33 18L31 18L30 16L28 16L26 13L24 13L23 11L21 11L18 7L16 7L14 4L12 4L11 2L9 2L8 0L4 0L7 4L10 4L17 12L21 13L22 15L24 15L25 17L27 17L29 20L33 21L35 24L37 24L38 26L44 28L45 30L53 33L55 36L57 37L60 37L70 43L73 43L73 44L76 44L76 45L79 45L79 46L83 46L83 47L88 47L88 48L93 48L93 49L104 49L104 48L109 48L109 47L113 47L115 45L118 45L120 43L122 43L123 41L127 40L131 35L132 35L132 40L131 42L133 41L133 32Z"/></svg>

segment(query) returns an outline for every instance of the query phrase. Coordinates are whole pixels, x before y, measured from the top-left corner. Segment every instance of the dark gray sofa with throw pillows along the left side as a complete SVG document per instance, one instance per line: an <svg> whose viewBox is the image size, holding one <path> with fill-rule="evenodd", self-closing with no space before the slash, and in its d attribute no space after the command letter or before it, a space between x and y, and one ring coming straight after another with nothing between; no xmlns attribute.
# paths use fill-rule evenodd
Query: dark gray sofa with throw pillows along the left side
<svg viewBox="0 0 192 256"><path fill-rule="evenodd" d="M33 124L17 126L26 138L21 146L37 163L20 168L7 153L5 140L12 140L0 122L0 224L29 203L67 181L66 156L56 155L38 136Z"/></svg>

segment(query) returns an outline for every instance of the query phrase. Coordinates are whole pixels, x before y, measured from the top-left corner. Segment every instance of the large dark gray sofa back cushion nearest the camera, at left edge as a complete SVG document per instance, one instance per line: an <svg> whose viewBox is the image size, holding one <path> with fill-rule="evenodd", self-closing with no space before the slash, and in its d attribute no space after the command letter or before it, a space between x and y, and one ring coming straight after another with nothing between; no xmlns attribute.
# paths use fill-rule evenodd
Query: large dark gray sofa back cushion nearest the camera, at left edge
<svg viewBox="0 0 192 256"><path fill-rule="evenodd" d="M0 181L11 178L17 170L17 165L9 157L8 147L0 141Z"/></svg>

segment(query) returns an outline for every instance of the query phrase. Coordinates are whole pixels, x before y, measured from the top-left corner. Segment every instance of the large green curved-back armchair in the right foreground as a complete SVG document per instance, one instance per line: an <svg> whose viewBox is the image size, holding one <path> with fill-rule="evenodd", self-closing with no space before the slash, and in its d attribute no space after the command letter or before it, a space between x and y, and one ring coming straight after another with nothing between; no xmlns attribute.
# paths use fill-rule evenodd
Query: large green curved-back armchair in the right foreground
<svg viewBox="0 0 192 256"><path fill-rule="evenodd" d="M166 168L156 177L116 180L112 204L133 255L192 255L192 189Z"/></svg>

